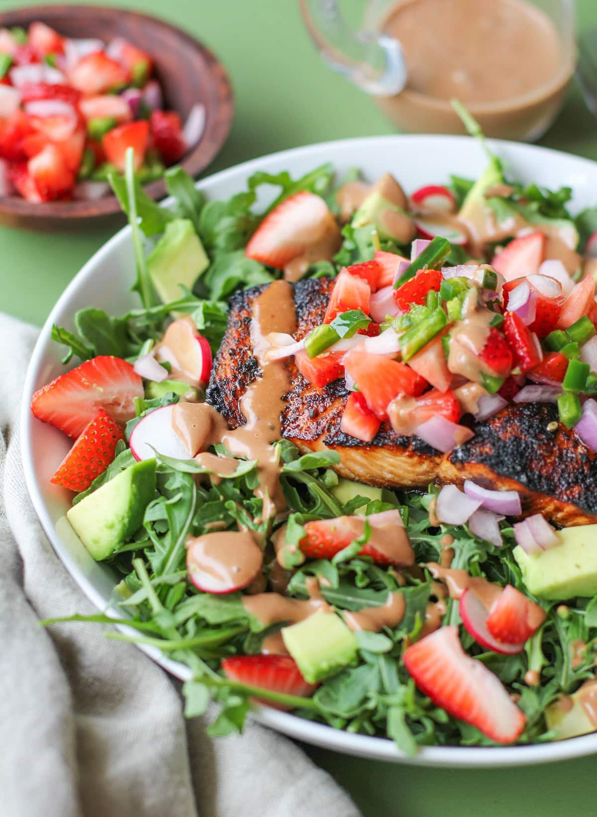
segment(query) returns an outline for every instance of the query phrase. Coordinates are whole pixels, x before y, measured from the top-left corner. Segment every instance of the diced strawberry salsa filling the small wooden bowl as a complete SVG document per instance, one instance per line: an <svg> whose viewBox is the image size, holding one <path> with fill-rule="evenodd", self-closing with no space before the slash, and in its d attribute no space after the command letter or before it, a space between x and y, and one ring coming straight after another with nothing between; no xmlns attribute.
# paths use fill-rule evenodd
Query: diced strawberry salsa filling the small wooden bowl
<svg viewBox="0 0 597 817"><path fill-rule="evenodd" d="M0 29L0 196L96 199L135 150L141 184L199 141L199 103L164 109L154 60L123 38L61 36L43 22Z"/></svg>

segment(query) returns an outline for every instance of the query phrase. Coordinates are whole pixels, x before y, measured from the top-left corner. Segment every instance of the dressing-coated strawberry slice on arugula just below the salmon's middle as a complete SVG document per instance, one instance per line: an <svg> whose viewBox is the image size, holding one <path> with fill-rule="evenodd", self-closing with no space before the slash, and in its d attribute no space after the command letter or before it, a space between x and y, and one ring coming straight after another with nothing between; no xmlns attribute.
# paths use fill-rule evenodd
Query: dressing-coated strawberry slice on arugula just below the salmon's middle
<svg viewBox="0 0 597 817"><path fill-rule="evenodd" d="M375 531L402 528L400 511L382 511L366 517L371 528L371 538L375 539ZM305 523L305 537L301 539L299 547L307 559L331 559L344 547L359 538L364 533L362 517L337 516L335 519L322 519ZM376 547L367 542L359 551L359 556L370 556L376 565L397 565L402 563L393 561ZM404 565L402 565L404 566Z"/></svg>

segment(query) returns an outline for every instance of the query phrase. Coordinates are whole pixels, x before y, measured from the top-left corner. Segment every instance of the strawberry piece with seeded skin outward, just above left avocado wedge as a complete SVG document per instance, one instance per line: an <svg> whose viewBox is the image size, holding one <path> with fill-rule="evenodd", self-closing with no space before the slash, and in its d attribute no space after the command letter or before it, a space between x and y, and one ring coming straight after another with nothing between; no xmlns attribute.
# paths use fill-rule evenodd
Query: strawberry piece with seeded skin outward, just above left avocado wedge
<svg viewBox="0 0 597 817"><path fill-rule="evenodd" d="M114 459L114 449L119 440L124 440L123 427L100 408L50 482L71 491L88 489Z"/></svg>

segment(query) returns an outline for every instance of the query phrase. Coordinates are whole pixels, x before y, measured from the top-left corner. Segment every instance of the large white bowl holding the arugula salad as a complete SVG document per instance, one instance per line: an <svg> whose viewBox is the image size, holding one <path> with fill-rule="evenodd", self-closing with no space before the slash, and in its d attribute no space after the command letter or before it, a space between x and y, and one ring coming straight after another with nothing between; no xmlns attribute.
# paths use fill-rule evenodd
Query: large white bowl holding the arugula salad
<svg viewBox="0 0 597 817"><path fill-rule="evenodd" d="M597 163L532 145L506 141L494 141L492 145L512 178L535 181L549 188L572 187L575 211L595 204ZM447 181L450 173L476 178L483 171L487 158L478 144L465 136L373 136L308 145L254 159L204 179L197 186L209 199L226 199L244 189L247 178L257 170L272 173L288 170L293 176L301 176L325 162L334 163L339 176L351 167L360 167L369 180L389 171L407 191L412 191L421 185L441 184ZM130 233L126 227L88 261L63 292L35 346L23 395L23 465L31 499L57 555L99 609L105 609L109 604L116 583L115 574L108 566L92 560L65 520L71 494L52 485L50 478L69 449L70 441L52 426L36 420L29 411L29 402L34 391L64 371L60 362L63 348L51 341L52 324L74 328L72 315L83 306L100 306L116 315L138 306L136 296L130 292L134 269ZM117 610L107 612L122 615ZM190 676L187 667L165 659L158 650L141 649L173 675L183 680ZM416 757L406 757L391 740L348 734L275 709L258 708L255 717L272 729L307 743L361 757L418 766L520 766L597 752L597 734L590 734L535 746L425 747Z"/></svg>

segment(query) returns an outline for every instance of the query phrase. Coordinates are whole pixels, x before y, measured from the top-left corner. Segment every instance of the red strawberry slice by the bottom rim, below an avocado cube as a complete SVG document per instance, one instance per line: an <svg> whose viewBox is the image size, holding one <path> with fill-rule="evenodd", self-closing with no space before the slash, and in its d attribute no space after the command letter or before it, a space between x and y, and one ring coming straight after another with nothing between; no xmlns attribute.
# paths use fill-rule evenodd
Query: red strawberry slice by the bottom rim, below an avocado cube
<svg viewBox="0 0 597 817"><path fill-rule="evenodd" d="M222 661L222 670L231 681L240 681L241 684L286 695L297 695L299 698L309 698L319 686L305 681L290 655L233 655ZM260 703L276 709L291 709L267 700Z"/></svg>

